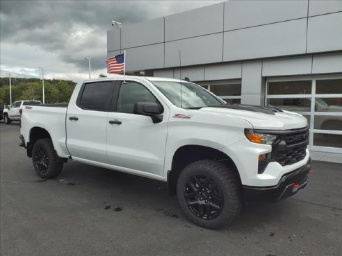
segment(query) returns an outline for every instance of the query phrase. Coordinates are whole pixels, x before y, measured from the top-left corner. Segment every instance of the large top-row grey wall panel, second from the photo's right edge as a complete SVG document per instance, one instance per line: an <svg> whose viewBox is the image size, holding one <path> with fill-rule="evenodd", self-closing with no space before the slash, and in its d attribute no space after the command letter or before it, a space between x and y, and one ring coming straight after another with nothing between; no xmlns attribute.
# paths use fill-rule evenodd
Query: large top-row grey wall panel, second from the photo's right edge
<svg viewBox="0 0 342 256"><path fill-rule="evenodd" d="M307 17L304 1L227 1L225 31Z"/></svg>

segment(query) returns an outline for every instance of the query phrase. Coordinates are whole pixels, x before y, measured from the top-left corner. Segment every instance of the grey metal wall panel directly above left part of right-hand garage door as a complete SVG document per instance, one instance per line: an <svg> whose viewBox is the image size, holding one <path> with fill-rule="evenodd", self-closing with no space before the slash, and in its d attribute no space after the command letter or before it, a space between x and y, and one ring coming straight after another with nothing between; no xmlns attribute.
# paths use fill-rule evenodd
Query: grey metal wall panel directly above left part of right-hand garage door
<svg viewBox="0 0 342 256"><path fill-rule="evenodd" d="M263 76L311 74L311 56L263 60Z"/></svg>

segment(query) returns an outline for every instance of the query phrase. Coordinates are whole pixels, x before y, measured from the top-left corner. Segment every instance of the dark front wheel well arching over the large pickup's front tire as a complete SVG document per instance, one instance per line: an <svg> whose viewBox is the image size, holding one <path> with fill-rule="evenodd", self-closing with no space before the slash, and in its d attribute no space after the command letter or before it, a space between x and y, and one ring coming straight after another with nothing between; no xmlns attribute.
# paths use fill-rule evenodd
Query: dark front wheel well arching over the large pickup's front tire
<svg viewBox="0 0 342 256"><path fill-rule="evenodd" d="M236 168L233 160L231 160L231 158L222 151L218 151L215 148L198 145L181 146L181 148L178 148L176 153L174 153L172 159L172 169L168 171L168 192L170 196L176 194L179 173L181 173L181 171L183 171L188 164L198 160L215 160L227 162L227 164L234 169L236 176L241 182L238 169Z"/></svg>

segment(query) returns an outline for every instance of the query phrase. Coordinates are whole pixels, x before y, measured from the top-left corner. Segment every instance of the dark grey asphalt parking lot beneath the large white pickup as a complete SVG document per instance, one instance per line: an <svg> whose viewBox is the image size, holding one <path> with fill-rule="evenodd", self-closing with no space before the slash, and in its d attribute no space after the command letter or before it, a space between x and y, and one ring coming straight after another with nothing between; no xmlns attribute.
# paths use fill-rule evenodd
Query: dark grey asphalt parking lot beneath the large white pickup
<svg viewBox="0 0 342 256"><path fill-rule="evenodd" d="M231 225L190 223L163 182L76 162L41 180L0 122L1 255L341 255L342 165L314 162L307 188L250 203Z"/></svg>

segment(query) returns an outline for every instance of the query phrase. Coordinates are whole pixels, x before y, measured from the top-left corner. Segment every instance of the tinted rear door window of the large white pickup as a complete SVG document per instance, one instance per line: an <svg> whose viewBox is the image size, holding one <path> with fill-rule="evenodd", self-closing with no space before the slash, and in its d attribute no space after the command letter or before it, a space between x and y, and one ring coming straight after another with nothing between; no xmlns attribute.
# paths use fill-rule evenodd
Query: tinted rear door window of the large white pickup
<svg viewBox="0 0 342 256"><path fill-rule="evenodd" d="M79 107L86 110L108 111L113 96L112 82L88 83L83 85Z"/></svg>

